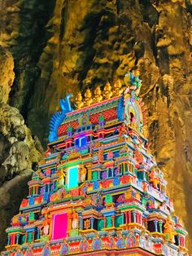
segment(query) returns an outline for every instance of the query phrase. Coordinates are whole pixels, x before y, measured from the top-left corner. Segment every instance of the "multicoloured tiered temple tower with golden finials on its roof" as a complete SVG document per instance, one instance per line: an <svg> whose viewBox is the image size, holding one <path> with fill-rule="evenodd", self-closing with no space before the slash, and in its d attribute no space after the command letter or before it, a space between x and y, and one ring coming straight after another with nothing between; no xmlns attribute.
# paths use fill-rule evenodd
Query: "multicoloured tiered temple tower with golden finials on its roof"
<svg viewBox="0 0 192 256"><path fill-rule="evenodd" d="M187 232L151 156L137 71L60 99L45 160L2 255L188 255Z"/></svg>

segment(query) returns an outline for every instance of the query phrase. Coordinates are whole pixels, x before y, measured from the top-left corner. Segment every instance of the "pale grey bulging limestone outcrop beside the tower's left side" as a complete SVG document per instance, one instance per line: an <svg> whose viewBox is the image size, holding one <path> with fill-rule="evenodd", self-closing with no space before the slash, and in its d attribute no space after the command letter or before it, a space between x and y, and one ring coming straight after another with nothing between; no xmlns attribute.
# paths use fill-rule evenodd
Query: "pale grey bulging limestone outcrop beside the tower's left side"
<svg viewBox="0 0 192 256"><path fill-rule="evenodd" d="M41 144L32 137L18 109L0 105L0 245L5 244L5 229L28 192L28 180L41 152Z"/></svg>

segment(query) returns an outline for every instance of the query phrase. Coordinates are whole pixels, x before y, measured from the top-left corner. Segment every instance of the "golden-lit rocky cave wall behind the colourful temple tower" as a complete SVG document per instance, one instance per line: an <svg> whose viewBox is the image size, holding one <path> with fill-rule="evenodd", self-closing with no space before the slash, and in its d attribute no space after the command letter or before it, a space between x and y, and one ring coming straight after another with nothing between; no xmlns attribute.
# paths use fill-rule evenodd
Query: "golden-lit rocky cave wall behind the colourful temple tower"
<svg viewBox="0 0 192 256"><path fill-rule="evenodd" d="M151 149L192 236L191 11L190 0L0 0L1 232L41 158L28 128L45 145L60 97L137 65Z"/></svg>

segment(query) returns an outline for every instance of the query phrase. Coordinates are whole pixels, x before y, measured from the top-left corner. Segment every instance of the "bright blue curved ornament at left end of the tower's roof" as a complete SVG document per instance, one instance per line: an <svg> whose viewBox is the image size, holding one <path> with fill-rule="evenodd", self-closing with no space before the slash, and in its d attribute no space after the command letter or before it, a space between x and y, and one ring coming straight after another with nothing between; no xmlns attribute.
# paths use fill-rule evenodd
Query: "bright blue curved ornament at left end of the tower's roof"
<svg viewBox="0 0 192 256"><path fill-rule="evenodd" d="M70 104L69 99L72 95L67 95L65 99L60 99L59 104L61 108L61 112L57 111L53 117L50 118L50 135L49 135L49 142L54 142L58 139L57 130L59 126L62 124L67 113L72 111L72 107Z"/></svg>

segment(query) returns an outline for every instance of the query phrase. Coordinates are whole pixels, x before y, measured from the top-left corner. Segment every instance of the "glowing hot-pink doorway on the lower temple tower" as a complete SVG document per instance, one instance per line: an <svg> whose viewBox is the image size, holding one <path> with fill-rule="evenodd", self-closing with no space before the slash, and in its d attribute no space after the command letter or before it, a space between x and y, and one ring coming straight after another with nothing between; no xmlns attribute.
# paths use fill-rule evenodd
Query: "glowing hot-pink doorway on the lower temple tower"
<svg viewBox="0 0 192 256"><path fill-rule="evenodd" d="M54 214L52 227L52 240L61 239L67 236L68 214Z"/></svg>

